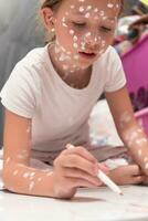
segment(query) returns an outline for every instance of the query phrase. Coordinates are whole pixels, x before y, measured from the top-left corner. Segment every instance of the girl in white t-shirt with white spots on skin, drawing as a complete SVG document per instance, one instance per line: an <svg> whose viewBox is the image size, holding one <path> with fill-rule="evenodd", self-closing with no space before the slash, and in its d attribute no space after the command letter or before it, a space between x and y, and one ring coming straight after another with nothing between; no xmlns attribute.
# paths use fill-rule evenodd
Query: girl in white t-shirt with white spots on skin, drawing
<svg viewBox="0 0 148 221"><path fill-rule="evenodd" d="M87 120L103 92L120 138L141 168L119 167L110 178L139 183L148 175L148 141L134 118L121 63L109 46L121 6L121 0L43 2L41 15L52 41L21 60L1 92L8 190L71 198L80 186L101 186L96 175L106 168L93 156ZM68 143L76 148L65 148ZM31 158L54 160L53 170L35 168Z"/></svg>

